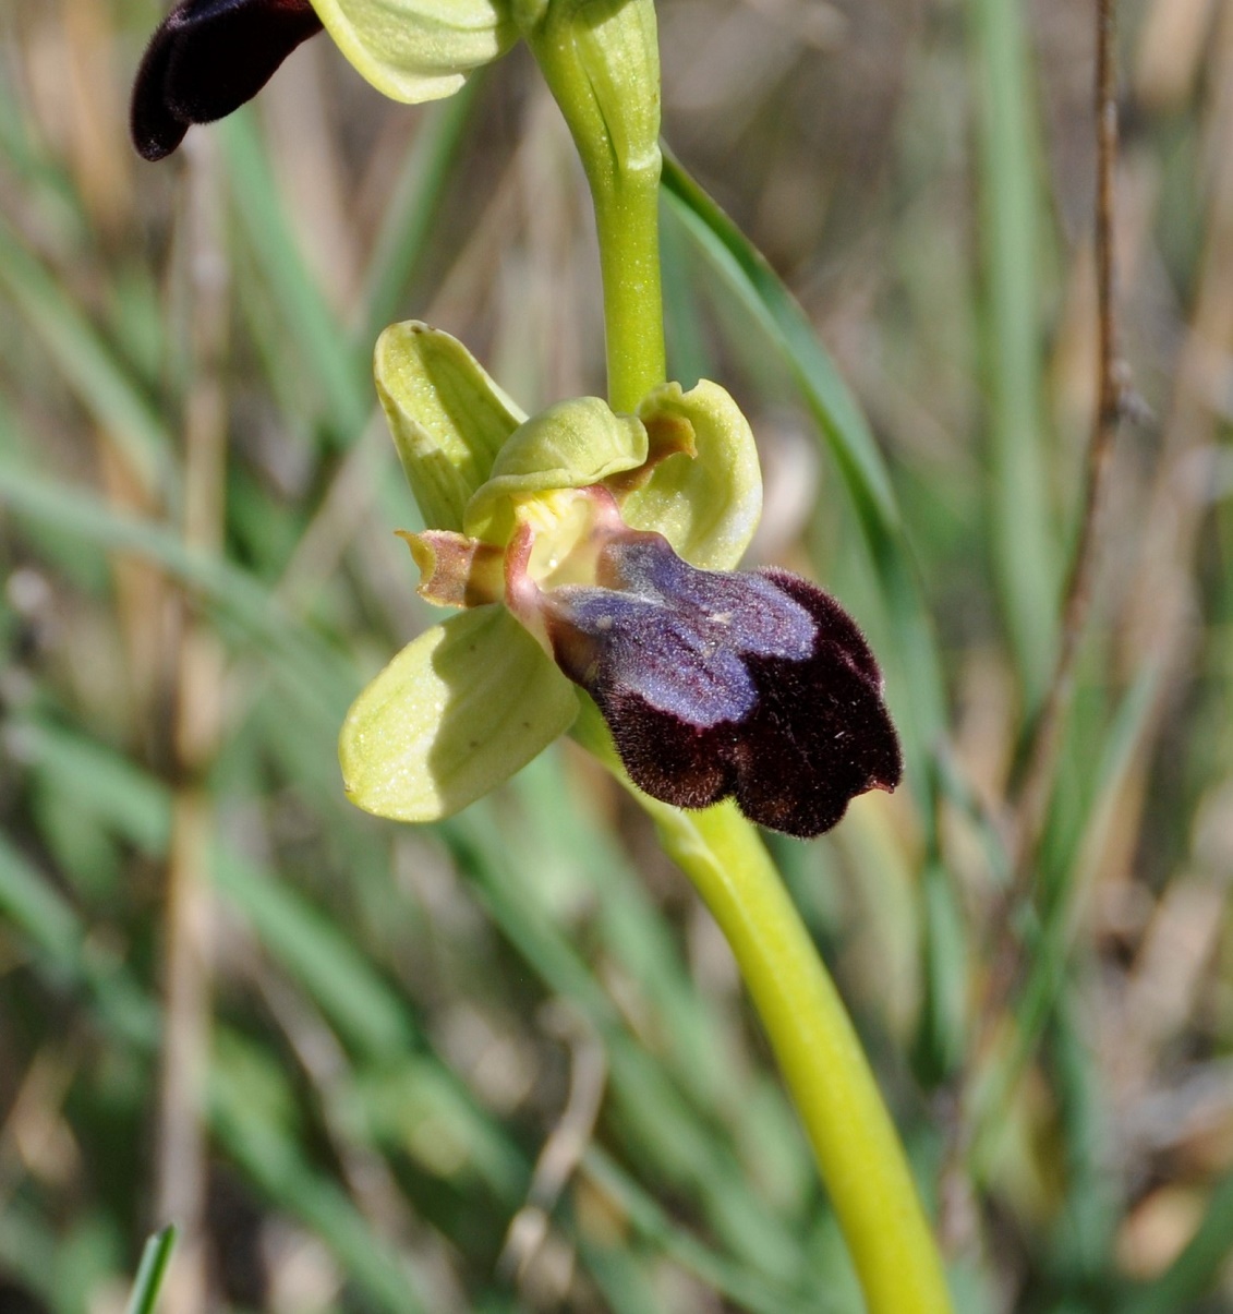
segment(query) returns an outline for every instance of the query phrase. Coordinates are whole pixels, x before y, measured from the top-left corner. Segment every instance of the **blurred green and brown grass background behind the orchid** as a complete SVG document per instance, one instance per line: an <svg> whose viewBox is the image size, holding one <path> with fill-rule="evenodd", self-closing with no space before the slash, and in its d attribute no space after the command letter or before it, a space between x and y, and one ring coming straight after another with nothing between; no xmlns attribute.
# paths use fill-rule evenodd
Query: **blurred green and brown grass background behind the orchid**
<svg viewBox="0 0 1233 1314"><path fill-rule="evenodd" d="M159 17L0 9L0 1310L122 1310L169 1214L169 1314L859 1310L726 947L600 771L558 745L422 829L341 795L431 619L376 332L528 410L603 389L529 59L408 110L314 41L155 167ZM960 1307L1233 1310L1233 3L1121 5L1141 405L1010 909L1095 393L1091 5L663 0L660 39L668 143L830 352L676 176L672 373L754 419L755 555L867 627L910 752L773 848Z"/></svg>

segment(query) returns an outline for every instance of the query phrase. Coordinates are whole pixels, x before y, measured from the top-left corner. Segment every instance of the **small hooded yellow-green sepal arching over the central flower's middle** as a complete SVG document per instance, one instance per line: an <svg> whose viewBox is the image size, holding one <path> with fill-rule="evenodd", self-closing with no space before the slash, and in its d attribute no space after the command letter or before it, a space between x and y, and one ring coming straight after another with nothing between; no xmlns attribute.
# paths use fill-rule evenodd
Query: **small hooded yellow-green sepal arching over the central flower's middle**
<svg viewBox="0 0 1233 1314"><path fill-rule="evenodd" d="M601 484L636 469L646 455L646 426L637 417L615 414L599 397L558 402L532 415L502 448L491 477L466 509L464 530L507 543L519 501Z"/></svg>

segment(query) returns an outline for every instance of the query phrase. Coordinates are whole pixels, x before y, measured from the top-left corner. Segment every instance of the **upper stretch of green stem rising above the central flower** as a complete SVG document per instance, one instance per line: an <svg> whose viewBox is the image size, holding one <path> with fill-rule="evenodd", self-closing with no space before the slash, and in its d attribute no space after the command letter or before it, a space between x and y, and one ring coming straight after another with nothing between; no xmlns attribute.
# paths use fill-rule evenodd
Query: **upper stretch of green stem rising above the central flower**
<svg viewBox="0 0 1233 1314"><path fill-rule="evenodd" d="M604 286L608 401L638 403L667 378L659 261L659 55L653 0L548 8L527 42L591 187Z"/></svg>

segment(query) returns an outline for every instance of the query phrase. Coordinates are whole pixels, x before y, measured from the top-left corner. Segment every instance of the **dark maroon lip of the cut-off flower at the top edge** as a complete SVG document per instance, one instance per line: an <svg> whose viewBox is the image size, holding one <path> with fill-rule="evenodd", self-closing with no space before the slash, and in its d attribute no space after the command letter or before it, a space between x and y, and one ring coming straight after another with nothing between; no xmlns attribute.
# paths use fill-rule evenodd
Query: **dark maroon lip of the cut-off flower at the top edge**
<svg viewBox="0 0 1233 1314"><path fill-rule="evenodd" d="M320 30L309 0L180 0L150 38L133 83L138 154L160 160L193 124L239 109Z"/></svg>

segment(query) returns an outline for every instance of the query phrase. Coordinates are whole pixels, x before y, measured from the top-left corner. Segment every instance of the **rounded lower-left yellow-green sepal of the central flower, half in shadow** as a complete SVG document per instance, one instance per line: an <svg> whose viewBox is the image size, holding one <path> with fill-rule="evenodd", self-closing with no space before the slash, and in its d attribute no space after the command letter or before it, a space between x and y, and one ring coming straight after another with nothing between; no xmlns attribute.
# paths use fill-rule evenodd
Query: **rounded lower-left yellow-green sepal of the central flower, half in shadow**
<svg viewBox="0 0 1233 1314"><path fill-rule="evenodd" d="M437 821L507 781L576 715L574 686L504 607L460 612L403 648L347 714L347 796L394 821Z"/></svg>

